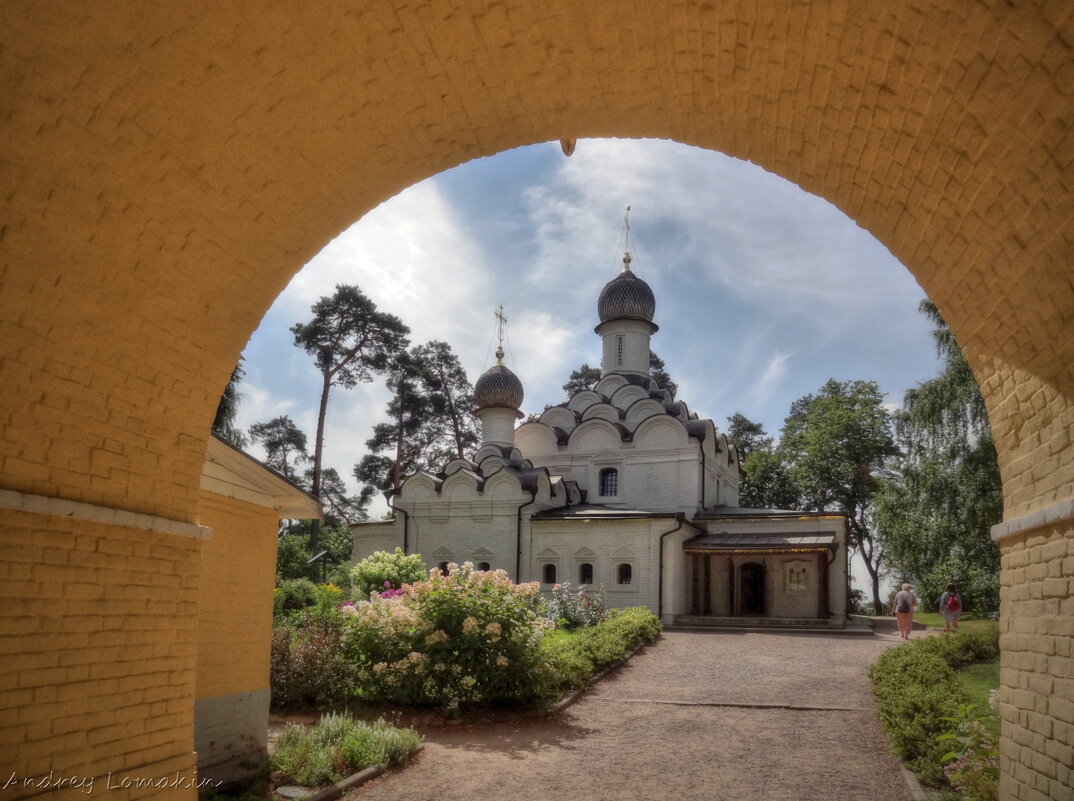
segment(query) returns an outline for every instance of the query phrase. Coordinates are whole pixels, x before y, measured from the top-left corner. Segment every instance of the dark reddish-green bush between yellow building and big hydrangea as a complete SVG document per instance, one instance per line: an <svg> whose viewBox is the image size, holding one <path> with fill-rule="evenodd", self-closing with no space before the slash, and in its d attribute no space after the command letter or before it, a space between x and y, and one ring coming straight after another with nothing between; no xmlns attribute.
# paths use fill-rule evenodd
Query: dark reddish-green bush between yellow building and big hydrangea
<svg viewBox="0 0 1074 801"><path fill-rule="evenodd" d="M343 658L343 617L300 613L294 624L273 628L270 686L275 710L344 704L353 693Z"/></svg>

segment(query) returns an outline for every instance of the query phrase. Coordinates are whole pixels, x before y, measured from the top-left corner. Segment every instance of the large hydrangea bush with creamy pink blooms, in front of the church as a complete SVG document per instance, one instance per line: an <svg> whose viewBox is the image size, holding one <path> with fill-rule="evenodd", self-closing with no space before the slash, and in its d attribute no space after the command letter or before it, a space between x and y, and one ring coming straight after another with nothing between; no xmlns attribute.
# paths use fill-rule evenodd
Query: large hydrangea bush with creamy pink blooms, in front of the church
<svg viewBox="0 0 1074 801"><path fill-rule="evenodd" d="M553 690L538 641L538 584L467 563L402 595L345 608L344 654L359 697L407 704L526 702Z"/></svg>

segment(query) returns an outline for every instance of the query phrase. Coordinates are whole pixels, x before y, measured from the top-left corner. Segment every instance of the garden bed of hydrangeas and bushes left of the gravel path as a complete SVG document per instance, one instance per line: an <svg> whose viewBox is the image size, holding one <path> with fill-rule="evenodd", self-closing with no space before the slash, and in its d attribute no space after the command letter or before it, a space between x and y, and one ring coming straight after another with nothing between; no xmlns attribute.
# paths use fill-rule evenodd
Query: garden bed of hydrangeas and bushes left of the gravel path
<svg viewBox="0 0 1074 801"><path fill-rule="evenodd" d="M659 633L642 608L605 612L598 594L567 585L545 600L537 584L513 584L503 571L451 566L369 600L281 621L273 705L449 718L541 710Z"/></svg>

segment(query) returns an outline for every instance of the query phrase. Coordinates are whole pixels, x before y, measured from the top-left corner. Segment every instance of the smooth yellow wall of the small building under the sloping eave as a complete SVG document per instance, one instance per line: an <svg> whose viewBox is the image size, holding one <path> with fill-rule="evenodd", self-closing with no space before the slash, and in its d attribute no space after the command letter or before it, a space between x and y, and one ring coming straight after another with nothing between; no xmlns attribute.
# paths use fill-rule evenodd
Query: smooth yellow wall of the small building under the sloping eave
<svg viewBox="0 0 1074 801"><path fill-rule="evenodd" d="M202 492L198 698L268 686L276 512Z"/></svg>

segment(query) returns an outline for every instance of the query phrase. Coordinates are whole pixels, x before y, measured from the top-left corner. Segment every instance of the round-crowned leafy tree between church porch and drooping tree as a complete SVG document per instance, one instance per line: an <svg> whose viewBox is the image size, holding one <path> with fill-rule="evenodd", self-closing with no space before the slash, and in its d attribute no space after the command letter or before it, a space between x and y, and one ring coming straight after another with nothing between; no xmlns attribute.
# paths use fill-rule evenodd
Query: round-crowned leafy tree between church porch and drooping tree
<svg viewBox="0 0 1074 801"><path fill-rule="evenodd" d="M794 402L783 424L780 452L798 487L799 508L846 514L851 543L872 582L883 613L880 574L884 548L873 528L873 504L898 454L891 416L875 381L829 380L815 395Z"/></svg>

